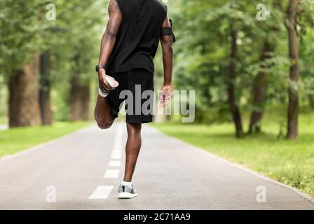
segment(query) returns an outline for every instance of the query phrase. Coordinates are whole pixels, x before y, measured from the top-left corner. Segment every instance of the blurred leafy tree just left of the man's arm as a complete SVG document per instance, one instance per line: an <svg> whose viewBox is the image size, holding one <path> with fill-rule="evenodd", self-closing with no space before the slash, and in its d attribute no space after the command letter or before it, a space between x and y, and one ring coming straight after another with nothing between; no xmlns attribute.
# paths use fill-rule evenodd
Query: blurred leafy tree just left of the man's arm
<svg viewBox="0 0 314 224"><path fill-rule="evenodd" d="M58 7L55 32L48 45L53 58L50 84L63 102L56 106L58 119L90 118L90 80L97 79L94 68L107 19L106 13L100 13L106 11L105 2L62 1Z"/></svg>

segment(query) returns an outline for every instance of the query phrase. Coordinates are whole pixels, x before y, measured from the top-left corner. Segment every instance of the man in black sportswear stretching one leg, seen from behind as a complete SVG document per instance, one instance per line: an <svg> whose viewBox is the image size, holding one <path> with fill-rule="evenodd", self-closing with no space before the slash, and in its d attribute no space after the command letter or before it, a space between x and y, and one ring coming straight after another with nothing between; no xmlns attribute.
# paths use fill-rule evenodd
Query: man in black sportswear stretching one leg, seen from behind
<svg viewBox="0 0 314 224"><path fill-rule="evenodd" d="M109 22L102 36L100 60L96 66L100 94L95 119L100 128L107 129L118 117L123 101L128 103L125 108L128 132L125 174L118 197L132 198L137 196L131 181L141 148L142 123L150 123L153 117L152 106L150 113L142 111L145 101L137 93L139 87L140 93L153 91L153 57L161 40L164 66L161 106L170 102L173 34L167 7L158 0L110 0L108 10ZM132 97L125 97L125 91L131 92ZM153 97L147 100L151 101Z"/></svg>

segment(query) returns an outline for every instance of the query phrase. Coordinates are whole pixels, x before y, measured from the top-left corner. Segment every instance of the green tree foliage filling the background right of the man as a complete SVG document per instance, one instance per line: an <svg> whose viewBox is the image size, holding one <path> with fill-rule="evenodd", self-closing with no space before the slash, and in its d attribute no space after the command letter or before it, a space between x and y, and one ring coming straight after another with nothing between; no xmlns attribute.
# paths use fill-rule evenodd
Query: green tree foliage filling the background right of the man
<svg viewBox="0 0 314 224"><path fill-rule="evenodd" d="M235 2L235 7L230 4ZM257 20L257 4L270 12L266 20ZM287 102L289 80L288 39L285 16L288 1L173 1L178 41L175 47L176 84L196 89L198 121L205 123L231 120L226 106L231 18L238 30L238 55L235 80L241 109L250 111L252 84L261 69L268 72L266 104ZM179 28L178 28L179 27ZM304 94L313 93L313 1L302 0L298 8L301 83ZM310 41L311 40L311 41ZM261 62L263 41L275 46L272 57ZM311 43L310 43L311 42ZM311 60L312 59L312 60ZM264 64L265 66L261 66ZM307 104L304 99L303 104Z"/></svg>

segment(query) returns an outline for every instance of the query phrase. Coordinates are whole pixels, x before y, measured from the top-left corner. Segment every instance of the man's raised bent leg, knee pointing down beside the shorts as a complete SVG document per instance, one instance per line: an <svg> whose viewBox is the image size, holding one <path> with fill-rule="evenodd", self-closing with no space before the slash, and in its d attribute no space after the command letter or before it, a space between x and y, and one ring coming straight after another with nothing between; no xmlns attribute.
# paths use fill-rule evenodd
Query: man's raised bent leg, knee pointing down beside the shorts
<svg viewBox="0 0 314 224"><path fill-rule="evenodd" d="M98 95L94 115L98 127L101 129L107 129L111 127L112 123L114 123L114 118L111 116L108 97L101 97Z"/></svg>

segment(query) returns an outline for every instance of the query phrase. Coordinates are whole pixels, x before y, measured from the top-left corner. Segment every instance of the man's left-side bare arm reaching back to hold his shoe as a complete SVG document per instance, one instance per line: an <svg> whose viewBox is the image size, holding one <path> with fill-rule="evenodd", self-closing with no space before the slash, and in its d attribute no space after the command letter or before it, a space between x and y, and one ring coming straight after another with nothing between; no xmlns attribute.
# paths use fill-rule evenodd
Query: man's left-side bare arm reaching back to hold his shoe
<svg viewBox="0 0 314 224"><path fill-rule="evenodd" d="M108 62L111 52L114 49L114 45L116 43L116 35L118 34L118 30L122 21L122 14L116 0L109 1L108 13L109 21L106 31L104 31L104 35L102 35L102 43L100 48L100 59L98 64L101 65L106 65ZM104 86L108 90L111 90L112 88L106 82L105 77L106 71L104 71L104 69L99 69L98 79L100 85Z"/></svg>

